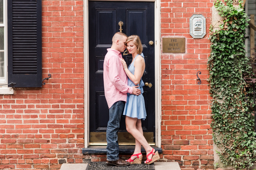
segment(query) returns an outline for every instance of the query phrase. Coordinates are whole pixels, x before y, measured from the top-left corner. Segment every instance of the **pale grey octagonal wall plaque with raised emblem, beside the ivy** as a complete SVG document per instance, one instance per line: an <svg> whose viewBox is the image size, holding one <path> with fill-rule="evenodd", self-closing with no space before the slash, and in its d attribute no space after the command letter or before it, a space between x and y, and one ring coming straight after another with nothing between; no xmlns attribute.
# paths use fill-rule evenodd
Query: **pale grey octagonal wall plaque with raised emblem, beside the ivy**
<svg viewBox="0 0 256 170"><path fill-rule="evenodd" d="M189 19L189 33L195 39L201 39L206 34L206 22L203 15L192 15Z"/></svg>

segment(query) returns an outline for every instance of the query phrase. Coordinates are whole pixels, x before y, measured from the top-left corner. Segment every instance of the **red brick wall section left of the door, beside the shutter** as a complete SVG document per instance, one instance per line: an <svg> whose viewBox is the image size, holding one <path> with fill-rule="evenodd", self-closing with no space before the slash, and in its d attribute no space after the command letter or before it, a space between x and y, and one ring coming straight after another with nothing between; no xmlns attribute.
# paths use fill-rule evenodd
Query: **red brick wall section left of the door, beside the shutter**
<svg viewBox="0 0 256 170"><path fill-rule="evenodd" d="M0 169L81 163L84 147L82 0L42 1L42 88L0 95ZM62 160L63 162L64 160Z"/></svg>

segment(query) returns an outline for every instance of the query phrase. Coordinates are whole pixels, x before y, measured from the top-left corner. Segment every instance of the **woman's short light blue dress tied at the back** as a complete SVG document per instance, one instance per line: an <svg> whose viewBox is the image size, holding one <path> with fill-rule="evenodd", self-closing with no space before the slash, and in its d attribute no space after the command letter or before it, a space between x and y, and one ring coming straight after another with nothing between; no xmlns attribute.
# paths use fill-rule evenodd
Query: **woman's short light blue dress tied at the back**
<svg viewBox="0 0 256 170"><path fill-rule="evenodd" d="M132 61L132 63L128 67L128 70L133 75L135 70L134 61L139 55L141 55L144 58L143 53L137 54L134 60ZM129 78L128 78L128 86L131 86L131 87L135 86L135 84ZM147 114L146 114L144 97L142 95L142 93L144 92L143 91L144 82L142 81L142 78L140 78L140 85L138 84L136 86L139 86L138 89L140 89L141 94L139 96L136 96L136 95L127 93L127 102L125 103L125 106L124 106L123 115L129 116L129 117L137 117L138 119L144 120Z"/></svg>

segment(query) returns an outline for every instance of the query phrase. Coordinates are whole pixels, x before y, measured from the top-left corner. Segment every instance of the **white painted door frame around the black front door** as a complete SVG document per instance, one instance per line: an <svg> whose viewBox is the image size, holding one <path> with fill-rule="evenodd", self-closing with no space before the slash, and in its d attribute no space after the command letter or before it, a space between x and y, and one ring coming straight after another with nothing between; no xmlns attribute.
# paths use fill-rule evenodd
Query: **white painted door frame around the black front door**
<svg viewBox="0 0 256 170"><path fill-rule="evenodd" d="M99 0L118 1L118 0ZM156 146L161 147L161 28L160 0L123 0L155 2L155 134ZM89 13L88 0L84 0L84 147L89 146Z"/></svg>

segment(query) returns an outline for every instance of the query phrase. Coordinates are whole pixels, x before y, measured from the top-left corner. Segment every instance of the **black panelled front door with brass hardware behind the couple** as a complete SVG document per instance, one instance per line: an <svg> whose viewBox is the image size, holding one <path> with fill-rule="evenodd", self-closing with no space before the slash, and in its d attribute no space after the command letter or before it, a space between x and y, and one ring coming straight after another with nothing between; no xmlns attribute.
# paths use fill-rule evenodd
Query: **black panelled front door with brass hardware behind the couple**
<svg viewBox="0 0 256 170"><path fill-rule="evenodd" d="M89 95L90 95L90 144L106 143L106 129L109 120L108 104L104 96L103 62L107 48L112 45L112 37L119 32L119 21L124 24L122 32L140 36L145 56L144 99L147 118L142 121L144 136L149 143L155 142L155 44L154 2L89 1ZM123 55L127 65L131 55ZM134 138L125 130L125 117L122 117L119 144L134 143Z"/></svg>

